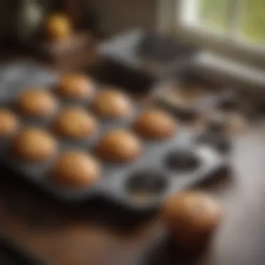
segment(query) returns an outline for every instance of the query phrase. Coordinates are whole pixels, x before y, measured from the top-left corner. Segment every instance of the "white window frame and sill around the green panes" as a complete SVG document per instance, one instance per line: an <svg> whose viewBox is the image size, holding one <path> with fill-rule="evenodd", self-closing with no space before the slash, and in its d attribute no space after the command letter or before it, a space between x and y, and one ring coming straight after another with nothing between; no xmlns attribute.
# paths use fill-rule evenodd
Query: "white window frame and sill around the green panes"
<svg viewBox="0 0 265 265"><path fill-rule="evenodd" d="M225 54L244 63L265 68L265 46L252 45L236 36L234 31L236 23L234 23L230 33L224 35L194 23L192 21L193 15L190 16L188 23L187 20L184 22L183 10L184 8L188 10L188 5L192 5L192 1L197 0L158 0L158 30L190 43L197 43L206 49ZM184 2L185 4L183 4ZM234 3L236 3L234 5L234 12L236 12L239 1L234 0ZM192 8L186 12L192 12Z"/></svg>

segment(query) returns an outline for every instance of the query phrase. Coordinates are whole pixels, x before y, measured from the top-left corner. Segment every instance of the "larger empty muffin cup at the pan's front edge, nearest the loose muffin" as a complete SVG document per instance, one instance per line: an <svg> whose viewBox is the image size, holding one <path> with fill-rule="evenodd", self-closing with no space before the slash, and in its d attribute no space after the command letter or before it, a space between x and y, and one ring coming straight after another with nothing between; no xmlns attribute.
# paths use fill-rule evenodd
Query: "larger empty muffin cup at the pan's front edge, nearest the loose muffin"
<svg viewBox="0 0 265 265"><path fill-rule="evenodd" d="M150 201L160 197L167 188L167 178L160 172L142 170L132 174L126 190L137 201Z"/></svg>

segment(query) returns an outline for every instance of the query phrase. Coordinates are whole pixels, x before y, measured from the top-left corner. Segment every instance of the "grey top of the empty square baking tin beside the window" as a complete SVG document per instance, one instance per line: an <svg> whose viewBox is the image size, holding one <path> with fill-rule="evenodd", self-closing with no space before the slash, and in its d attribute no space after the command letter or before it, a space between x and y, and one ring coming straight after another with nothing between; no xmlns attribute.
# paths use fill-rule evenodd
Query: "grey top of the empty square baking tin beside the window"
<svg viewBox="0 0 265 265"><path fill-rule="evenodd" d="M138 68L144 67L149 60L167 65L174 59L182 61L198 52L197 47L141 29L132 29L105 40L98 50Z"/></svg>

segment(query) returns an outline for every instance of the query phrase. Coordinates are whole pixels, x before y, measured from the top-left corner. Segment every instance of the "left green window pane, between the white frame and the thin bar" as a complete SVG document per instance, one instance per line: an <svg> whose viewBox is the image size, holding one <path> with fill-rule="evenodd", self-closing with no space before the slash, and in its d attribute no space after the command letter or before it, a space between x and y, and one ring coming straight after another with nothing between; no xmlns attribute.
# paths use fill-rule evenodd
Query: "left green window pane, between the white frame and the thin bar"
<svg viewBox="0 0 265 265"><path fill-rule="evenodd" d="M202 24L216 30L225 31L228 26L230 0L198 0Z"/></svg>

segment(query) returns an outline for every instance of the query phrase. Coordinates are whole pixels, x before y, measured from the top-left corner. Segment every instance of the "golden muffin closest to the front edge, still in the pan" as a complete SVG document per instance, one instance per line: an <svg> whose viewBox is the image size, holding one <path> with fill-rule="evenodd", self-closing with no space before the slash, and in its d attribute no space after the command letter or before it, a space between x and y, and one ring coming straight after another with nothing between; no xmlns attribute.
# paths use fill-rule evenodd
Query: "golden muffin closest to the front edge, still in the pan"
<svg viewBox="0 0 265 265"><path fill-rule="evenodd" d="M99 163L82 151L63 153L56 161L52 172L53 181L72 188L90 186L99 177Z"/></svg>

